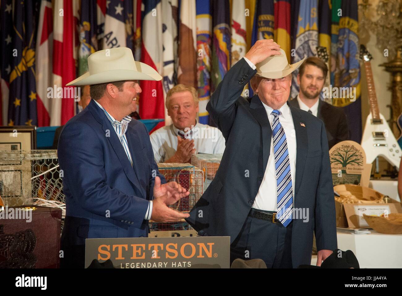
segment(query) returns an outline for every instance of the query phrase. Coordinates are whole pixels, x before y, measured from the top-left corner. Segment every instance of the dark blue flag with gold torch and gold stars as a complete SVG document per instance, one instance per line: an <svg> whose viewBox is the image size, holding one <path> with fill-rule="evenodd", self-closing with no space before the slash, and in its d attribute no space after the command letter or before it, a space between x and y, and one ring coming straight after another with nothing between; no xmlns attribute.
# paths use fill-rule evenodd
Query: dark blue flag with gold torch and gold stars
<svg viewBox="0 0 402 296"><path fill-rule="evenodd" d="M11 64L8 125L37 125L35 82L35 1L16 1L12 53L7 56Z"/></svg>

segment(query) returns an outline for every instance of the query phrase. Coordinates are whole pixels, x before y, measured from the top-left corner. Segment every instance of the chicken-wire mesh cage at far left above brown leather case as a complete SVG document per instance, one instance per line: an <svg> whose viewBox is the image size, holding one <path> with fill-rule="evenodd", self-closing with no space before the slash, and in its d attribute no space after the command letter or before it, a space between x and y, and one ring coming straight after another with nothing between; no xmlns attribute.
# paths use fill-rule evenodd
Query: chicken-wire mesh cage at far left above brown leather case
<svg viewBox="0 0 402 296"><path fill-rule="evenodd" d="M65 197L57 150L0 151L0 196L4 206L61 207Z"/></svg>

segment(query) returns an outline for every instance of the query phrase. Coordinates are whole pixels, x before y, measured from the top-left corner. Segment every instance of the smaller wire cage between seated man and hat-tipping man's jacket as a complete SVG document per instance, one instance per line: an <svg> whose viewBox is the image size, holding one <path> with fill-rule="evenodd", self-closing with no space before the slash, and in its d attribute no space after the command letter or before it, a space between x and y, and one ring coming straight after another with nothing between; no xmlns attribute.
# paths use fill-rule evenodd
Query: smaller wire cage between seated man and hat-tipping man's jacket
<svg viewBox="0 0 402 296"><path fill-rule="evenodd" d="M204 172L204 192L215 178L216 171L222 160L222 153L220 154L193 154L191 155L191 164L200 168Z"/></svg>

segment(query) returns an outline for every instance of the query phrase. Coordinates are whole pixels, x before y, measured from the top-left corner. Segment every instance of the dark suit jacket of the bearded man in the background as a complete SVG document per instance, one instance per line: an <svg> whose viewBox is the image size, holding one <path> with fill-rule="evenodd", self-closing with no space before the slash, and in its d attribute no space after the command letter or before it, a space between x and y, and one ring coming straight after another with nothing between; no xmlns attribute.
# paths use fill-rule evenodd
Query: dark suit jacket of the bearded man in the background
<svg viewBox="0 0 402 296"><path fill-rule="evenodd" d="M300 108L297 98L291 99L289 103ZM350 140L348 122L342 108L319 100L317 117L324 122L329 149L339 142Z"/></svg>

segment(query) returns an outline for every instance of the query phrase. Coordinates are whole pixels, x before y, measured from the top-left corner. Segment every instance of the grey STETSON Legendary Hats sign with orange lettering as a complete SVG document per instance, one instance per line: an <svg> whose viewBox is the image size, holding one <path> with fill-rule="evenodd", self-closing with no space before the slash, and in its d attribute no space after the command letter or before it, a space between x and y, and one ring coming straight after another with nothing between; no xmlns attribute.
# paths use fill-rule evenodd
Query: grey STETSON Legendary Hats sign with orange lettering
<svg viewBox="0 0 402 296"><path fill-rule="evenodd" d="M115 268L229 268L230 237L87 238L85 267L94 259Z"/></svg>

